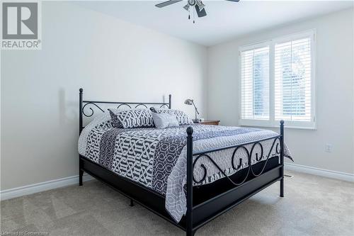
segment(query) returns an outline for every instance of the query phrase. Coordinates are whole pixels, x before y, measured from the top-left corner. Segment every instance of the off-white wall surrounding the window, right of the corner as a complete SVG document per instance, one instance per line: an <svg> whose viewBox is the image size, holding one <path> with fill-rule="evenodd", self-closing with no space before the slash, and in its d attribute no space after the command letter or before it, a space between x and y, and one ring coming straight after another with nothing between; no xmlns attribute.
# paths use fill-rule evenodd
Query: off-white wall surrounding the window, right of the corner
<svg viewBox="0 0 354 236"><path fill-rule="evenodd" d="M353 174L353 9L208 48L207 116L238 125L239 46L312 28L317 33L317 130L285 129L285 141L296 164ZM324 152L326 143L333 152Z"/></svg>

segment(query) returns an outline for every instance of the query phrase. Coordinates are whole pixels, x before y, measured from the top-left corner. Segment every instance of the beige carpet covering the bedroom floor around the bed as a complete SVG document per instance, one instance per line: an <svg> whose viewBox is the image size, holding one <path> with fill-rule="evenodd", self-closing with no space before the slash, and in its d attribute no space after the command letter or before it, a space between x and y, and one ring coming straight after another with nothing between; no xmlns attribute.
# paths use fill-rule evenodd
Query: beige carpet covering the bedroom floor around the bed
<svg viewBox="0 0 354 236"><path fill-rule="evenodd" d="M354 235L354 184L287 172L195 235ZM1 202L1 232L50 235L185 235L98 181Z"/></svg>

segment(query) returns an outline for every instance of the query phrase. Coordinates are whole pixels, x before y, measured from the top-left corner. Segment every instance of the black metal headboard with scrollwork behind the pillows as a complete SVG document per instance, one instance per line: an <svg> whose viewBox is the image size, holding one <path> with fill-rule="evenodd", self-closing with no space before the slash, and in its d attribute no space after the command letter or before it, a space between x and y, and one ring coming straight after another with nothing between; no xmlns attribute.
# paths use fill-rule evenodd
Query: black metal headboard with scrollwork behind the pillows
<svg viewBox="0 0 354 236"><path fill-rule="evenodd" d="M171 109L171 94L169 94L168 103L149 103L149 102L132 102L132 101L87 101L82 99L84 89L79 89L79 133L84 129L83 116L91 117L95 111L92 107L96 107L98 111L105 112L100 105L110 105L114 108L120 108L120 106L127 106L129 108L148 108L147 105L160 105L160 108L166 106ZM86 110L85 110L86 109ZM89 110L89 111L87 111Z"/></svg>

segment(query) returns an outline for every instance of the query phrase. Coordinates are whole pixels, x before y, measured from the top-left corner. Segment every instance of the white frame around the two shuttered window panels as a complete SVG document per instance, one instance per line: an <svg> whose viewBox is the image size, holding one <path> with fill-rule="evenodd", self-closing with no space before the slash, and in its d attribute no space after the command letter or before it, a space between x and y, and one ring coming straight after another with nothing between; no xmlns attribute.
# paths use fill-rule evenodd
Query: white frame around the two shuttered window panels
<svg viewBox="0 0 354 236"><path fill-rule="evenodd" d="M285 128L316 130L316 29L305 30L299 33L265 40L260 43L253 43L239 47L239 125L241 126L260 126L278 127L280 120L275 120L275 44L285 43L291 40L302 38L311 39L311 121L285 120ZM259 47L269 47L269 120L242 119L242 71L241 55L242 52L253 50Z"/></svg>

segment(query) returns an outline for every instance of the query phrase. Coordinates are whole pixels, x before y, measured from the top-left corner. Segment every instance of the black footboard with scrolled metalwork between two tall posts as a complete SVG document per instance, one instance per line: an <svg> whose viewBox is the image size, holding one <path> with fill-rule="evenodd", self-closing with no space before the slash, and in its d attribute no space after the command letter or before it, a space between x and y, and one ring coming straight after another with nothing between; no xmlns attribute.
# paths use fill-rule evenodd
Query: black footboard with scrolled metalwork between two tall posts
<svg viewBox="0 0 354 236"><path fill-rule="evenodd" d="M256 140L253 142L246 142L239 145L233 145L229 147L221 147L213 150L206 150L202 152L193 153L193 128L187 128L187 213L185 215L185 225L187 235L194 235L195 230L199 227L205 225L210 220L217 218L227 210L234 208L234 206L239 205L247 198L250 198L254 194L258 193L262 189L274 184L276 181L280 181L280 196L284 195L283 189L283 172L284 172L284 121L280 121L280 135L275 137L266 138L263 140ZM272 145L268 153L264 155L264 148L262 145L263 141L271 140ZM250 151L246 146L250 147ZM258 151L256 151L258 147ZM246 152L248 159L248 167L246 167L246 174L239 181L230 178L224 170L219 167L214 159L210 157L210 153L217 152L221 150L233 150L230 161L234 171L239 171L241 169L241 159L239 159L238 164L236 164L236 154L243 150ZM278 154L279 161L278 165L267 168L268 160L272 153ZM251 160L255 157L257 162L263 160L263 165L255 169ZM220 173L224 176L224 179L229 181L232 188L223 193L219 193L217 196L210 198L207 201L198 203L198 205L193 205L193 183L201 183L207 177L207 168L200 164L200 168L203 170L202 179L195 179L194 169L197 167L198 159L206 158L210 161L214 167L216 167Z"/></svg>

